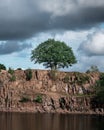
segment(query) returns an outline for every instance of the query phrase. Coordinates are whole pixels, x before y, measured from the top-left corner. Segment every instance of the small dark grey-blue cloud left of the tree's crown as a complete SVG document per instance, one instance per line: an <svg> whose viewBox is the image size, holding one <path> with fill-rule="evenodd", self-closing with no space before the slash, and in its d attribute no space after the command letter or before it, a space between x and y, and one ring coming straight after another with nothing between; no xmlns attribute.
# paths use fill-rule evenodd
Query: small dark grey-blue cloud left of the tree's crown
<svg viewBox="0 0 104 130"><path fill-rule="evenodd" d="M20 43L17 41L7 41L0 44L0 54L11 54L13 52L20 52L24 49L31 48L31 44Z"/></svg>

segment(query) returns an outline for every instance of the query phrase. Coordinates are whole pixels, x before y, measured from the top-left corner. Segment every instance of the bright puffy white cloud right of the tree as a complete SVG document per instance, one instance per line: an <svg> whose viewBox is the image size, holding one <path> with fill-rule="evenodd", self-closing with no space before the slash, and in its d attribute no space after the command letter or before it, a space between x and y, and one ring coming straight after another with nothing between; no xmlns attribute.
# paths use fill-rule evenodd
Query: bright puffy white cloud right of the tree
<svg viewBox="0 0 104 130"><path fill-rule="evenodd" d="M89 56L104 55L104 31L99 30L88 35L87 40L80 45L79 50Z"/></svg>

